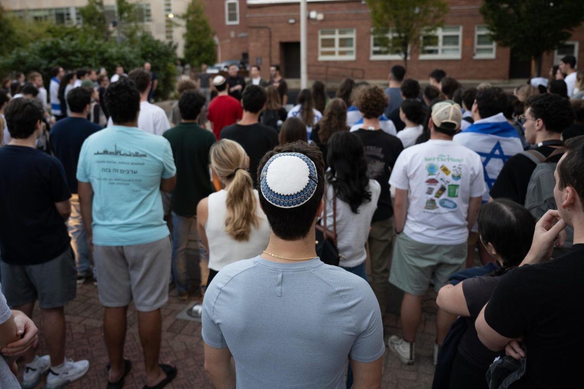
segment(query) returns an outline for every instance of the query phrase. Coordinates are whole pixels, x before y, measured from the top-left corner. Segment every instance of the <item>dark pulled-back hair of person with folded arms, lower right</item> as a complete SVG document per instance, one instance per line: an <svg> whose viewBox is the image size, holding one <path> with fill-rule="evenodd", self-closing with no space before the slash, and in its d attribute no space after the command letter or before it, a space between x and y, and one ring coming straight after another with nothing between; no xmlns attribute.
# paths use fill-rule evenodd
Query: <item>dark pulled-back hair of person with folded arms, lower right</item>
<svg viewBox="0 0 584 389"><path fill-rule="evenodd" d="M491 243L503 260L497 273L519 266L527 255L536 229L536 220L527 209L515 201L499 198L478 212L478 232L483 244Z"/></svg>

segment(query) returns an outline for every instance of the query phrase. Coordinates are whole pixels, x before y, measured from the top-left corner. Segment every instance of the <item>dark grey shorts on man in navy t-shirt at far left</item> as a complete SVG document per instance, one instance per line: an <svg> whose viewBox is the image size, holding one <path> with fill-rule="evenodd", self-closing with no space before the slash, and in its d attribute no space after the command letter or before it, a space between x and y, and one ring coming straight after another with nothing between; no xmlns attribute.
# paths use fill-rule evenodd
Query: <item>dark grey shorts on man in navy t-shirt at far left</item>
<svg viewBox="0 0 584 389"><path fill-rule="evenodd" d="M2 293L11 308L39 300L41 309L64 307L75 299L77 269L71 248L39 265L1 262Z"/></svg>

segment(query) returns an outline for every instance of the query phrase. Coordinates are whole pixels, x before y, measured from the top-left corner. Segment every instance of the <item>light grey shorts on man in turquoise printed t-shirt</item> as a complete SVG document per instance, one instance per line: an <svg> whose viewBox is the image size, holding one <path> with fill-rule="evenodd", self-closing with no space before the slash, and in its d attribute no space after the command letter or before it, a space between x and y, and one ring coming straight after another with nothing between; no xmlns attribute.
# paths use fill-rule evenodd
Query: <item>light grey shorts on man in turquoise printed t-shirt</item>
<svg viewBox="0 0 584 389"><path fill-rule="evenodd" d="M93 246L99 301L138 311L154 311L168 300L172 246L169 237L131 246Z"/></svg>

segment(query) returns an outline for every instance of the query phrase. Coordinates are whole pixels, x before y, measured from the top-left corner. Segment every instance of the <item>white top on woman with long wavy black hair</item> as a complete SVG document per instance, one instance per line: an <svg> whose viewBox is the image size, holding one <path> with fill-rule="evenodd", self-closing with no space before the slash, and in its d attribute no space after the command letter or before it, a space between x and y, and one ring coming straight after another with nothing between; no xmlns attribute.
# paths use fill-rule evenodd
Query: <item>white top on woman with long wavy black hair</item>
<svg viewBox="0 0 584 389"><path fill-rule="evenodd" d="M381 185L376 180L369 180L368 190L371 192L371 201L361 204L358 209L359 213L353 213L349 204L339 197L336 198L337 248L339 253L343 255L339 262L342 267L356 267L362 264L367 257L365 243L369 237L371 218L377 209ZM332 185L328 184L326 190L326 228L330 231L333 231L332 191Z"/></svg>

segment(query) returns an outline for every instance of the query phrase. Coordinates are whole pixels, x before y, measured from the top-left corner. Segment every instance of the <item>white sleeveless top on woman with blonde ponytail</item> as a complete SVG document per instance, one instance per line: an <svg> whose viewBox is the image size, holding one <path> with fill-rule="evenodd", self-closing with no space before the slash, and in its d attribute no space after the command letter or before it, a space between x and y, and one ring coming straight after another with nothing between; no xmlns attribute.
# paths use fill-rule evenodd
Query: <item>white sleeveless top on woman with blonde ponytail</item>
<svg viewBox="0 0 584 389"><path fill-rule="evenodd" d="M266 215L259 206L258 191L253 190L257 199L256 215L259 218L259 228L252 226L248 241L237 241L225 232L227 218L227 191L220 190L209 195L208 218L205 225L209 244L209 268L220 271L223 267L239 260L257 257L266 249L270 240L270 226Z"/></svg>

